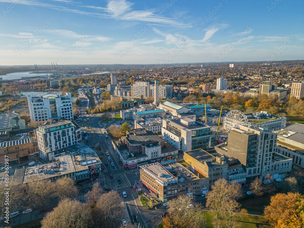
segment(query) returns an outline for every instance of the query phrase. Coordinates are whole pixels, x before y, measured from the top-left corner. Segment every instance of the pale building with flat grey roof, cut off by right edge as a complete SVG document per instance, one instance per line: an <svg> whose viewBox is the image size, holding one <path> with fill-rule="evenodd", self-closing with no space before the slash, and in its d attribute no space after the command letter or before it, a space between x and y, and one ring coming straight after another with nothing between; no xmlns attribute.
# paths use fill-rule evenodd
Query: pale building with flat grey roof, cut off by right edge
<svg viewBox="0 0 304 228"><path fill-rule="evenodd" d="M304 125L290 124L277 130L276 152L292 159L292 168L304 168Z"/></svg>

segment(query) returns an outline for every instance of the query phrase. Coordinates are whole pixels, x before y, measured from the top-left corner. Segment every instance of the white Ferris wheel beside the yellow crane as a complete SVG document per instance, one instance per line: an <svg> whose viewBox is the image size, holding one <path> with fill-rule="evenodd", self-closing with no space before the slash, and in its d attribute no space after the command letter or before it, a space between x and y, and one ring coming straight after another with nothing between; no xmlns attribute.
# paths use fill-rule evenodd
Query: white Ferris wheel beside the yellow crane
<svg viewBox="0 0 304 228"><path fill-rule="evenodd" d="M243 112L239 110L231 110L224 119L224 129L231 130L231 127L239 127L240 125L248 124L248 119Z"/></svg>

